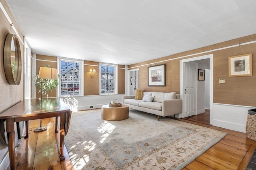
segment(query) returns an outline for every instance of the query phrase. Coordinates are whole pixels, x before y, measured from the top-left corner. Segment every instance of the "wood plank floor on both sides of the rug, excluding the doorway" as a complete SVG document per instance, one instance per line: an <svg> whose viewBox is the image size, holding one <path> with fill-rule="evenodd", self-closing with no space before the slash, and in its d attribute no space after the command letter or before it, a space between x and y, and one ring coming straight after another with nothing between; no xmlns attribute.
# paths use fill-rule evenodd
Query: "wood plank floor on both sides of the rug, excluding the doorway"
<svg viewBox="0 0 256 170"><path fill-rule="evenodd" d="M208 149L204 154L188 164L183 170L245 170L256 148L256 141L246 138L246 133L214 127L200 120L196 122L190 119L180 121L217 129L227 132L216 145ZM55 119L43 119L42 125L47 130L35 133L33 129L39 126L40 120L30 121L30 136L22 138L21 144L16 148L17 170L73 170L66 147L64 147L65 161L59 159L60 134L54 133ZM57 143L57 145L56 145Z"/></svg>

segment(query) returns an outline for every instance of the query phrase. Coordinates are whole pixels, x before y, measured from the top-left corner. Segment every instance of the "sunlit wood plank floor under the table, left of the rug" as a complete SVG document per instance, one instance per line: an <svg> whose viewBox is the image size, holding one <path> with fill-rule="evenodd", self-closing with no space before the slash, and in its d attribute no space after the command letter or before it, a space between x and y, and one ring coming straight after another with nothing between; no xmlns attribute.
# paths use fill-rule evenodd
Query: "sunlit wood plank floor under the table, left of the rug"
<svg viewBox="0 0 256 170"><path fill-rule="evenodd" d="M16 148L16 170L74 170L65 146L63 152L66 159L60 161L60 131L54 132L55 118L42 119L42 126L47 127L47 130L34 132L39 125L40 119L30 121L29 137L22 138Z"/></svg>

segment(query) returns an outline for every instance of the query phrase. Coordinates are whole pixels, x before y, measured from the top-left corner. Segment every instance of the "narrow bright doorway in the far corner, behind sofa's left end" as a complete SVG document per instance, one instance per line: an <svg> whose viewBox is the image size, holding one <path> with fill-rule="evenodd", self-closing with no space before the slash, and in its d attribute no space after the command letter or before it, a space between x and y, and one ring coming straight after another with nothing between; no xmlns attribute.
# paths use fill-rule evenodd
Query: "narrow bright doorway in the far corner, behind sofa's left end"
<svg viewBox="0 0 256 170"><path fill-rule="evenodd" d="M128 70L128 95L134 96L136 88L139 88L139 69Z"/></svg>

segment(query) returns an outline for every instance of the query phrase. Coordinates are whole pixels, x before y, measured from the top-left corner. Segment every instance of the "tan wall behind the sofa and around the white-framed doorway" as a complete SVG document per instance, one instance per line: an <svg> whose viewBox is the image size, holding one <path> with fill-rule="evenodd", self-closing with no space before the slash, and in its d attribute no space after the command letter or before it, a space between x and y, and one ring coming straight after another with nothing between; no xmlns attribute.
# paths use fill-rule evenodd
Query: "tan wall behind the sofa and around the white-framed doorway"
<svg viewBox="0 0 256 170"><path fill-rule="evenodd" d="M246 43L256 40L256 34L225 41L186 51L183 53L162 57L159 59L146 61L143 63L136 63L128 66L140 68L140 88L144 91L158 91L158 92L176 92L180 93L180 60L174 59L186 55L192 55L201 53L204 51L214 50L222 47L228 47L231 45L237 45L240 43ZM202 53L200 55L194 55L192 57L198 57L208 54L213 54L213 102L221 104L233 104L242 106L256 106L256 43L241 45L245 54L252 53L252 76L240 76L240 77L228 77L228 57L234 55L244 54L240 47L233 47L229 49L218 50L210 53ZM186 57L182 59L192 58ZM152 87L148 86L148 66L140 66L143 64L149 64L168 59L174 59L167 61L166 64L166 86L164 87ZM226 84L219 84L219 78L225 78Z"/></svg>

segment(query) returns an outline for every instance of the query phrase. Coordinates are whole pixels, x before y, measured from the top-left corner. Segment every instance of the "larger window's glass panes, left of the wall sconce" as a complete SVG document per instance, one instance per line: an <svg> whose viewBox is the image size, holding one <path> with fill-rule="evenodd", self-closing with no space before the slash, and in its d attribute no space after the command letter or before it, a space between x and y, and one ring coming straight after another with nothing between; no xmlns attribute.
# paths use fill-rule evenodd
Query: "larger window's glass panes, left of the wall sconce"
<svg viewBox="0 0 256 170"><path fill-rule="evenodd" d="M81 96L82 95L82 61L69 61L59 59L59 72L61 78L60 82L60 96ZM76 76L73 76L76 73Z"/></svg>

